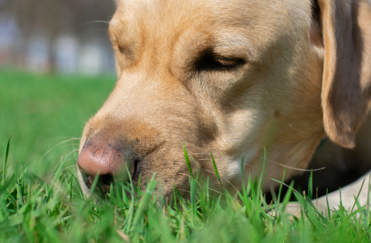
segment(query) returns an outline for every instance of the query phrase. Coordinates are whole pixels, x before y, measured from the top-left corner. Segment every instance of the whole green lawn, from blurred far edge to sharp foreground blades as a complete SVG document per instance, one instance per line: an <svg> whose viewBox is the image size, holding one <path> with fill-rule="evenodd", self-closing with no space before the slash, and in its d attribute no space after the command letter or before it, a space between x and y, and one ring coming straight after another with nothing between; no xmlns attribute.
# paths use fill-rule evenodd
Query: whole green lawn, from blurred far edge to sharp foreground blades
<svg viewBox="0 0 371 243"><path fill-rule="evenodd" d="M302 218L290 220L281 210L271 216L269 209L284 207L291 191L278 193L269 206L259 175L238 200L209 196L194 175L190 201L175 190L166 202L153 195L155 180L142 178L148 183L144 194L131 184L115 185L98 205L83 196L71 167L78 140L60 143L81 136L114 77L0 70L0 85L0 158L6 165L5 171L0 166L0 242L370 242L369 208L355 203L349 212L317 212L311 186L305 197L292 192L303 206ZM124 191L138 195L129 198Z"/></svg>

